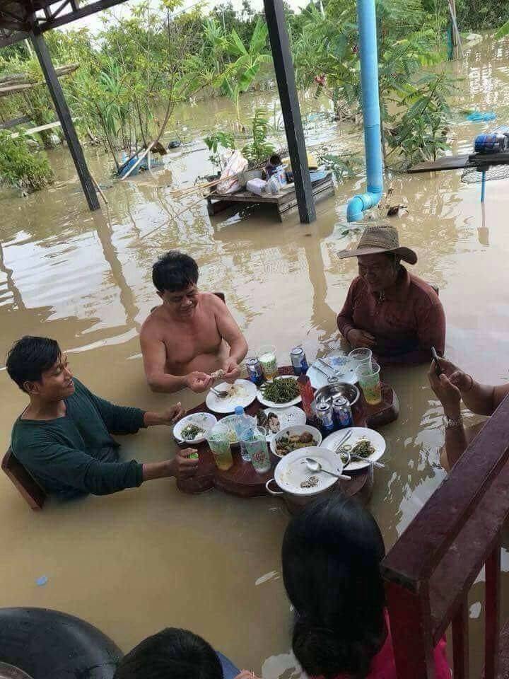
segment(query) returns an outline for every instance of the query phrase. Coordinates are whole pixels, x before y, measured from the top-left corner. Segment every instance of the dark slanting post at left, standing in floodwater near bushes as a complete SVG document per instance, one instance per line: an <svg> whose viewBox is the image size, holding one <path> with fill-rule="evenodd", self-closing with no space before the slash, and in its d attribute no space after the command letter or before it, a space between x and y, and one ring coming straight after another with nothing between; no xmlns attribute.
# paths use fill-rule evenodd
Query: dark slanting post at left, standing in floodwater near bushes
<svg viewBox="0 0 509 679"><path fill-rule="evenodd" d="M78 177L81 181L81 187L83 188L83 193L85 194L88 202L88 207L90 210L98 210L100 207L99 199L97 193L95 192L93 180L90 177L90 173L88 172L85 156L83 156L83 149L79 143L76 129L74 129L71 112L69 111L69 106L65 100L64 92L62 91L62 86L59 83L51 56L49 55L46 41L41 34L36 33L30 33L30 40L32 41L35 54L37 54L37 59L39 59L49 94L52 97L54 107L57 110L57 115L59 117L60 123L62 124L62 130L64 131L67 146L69 146L69 151L71 151L71 156L73 158L74 165L76 166L76 171L78 172Z"/></svg>

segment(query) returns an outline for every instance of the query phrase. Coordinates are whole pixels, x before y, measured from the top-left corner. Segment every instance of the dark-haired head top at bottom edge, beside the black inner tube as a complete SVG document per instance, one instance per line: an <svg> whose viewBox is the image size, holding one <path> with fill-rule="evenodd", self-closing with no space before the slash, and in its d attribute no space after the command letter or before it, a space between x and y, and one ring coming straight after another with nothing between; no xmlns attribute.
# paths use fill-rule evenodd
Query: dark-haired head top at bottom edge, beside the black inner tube
<svg viewBox="0 0 509 679"><path fill-rule="evenodd" d="M223 679L223 668L204 639L166 627L129 651L113 679Z"/></svg>

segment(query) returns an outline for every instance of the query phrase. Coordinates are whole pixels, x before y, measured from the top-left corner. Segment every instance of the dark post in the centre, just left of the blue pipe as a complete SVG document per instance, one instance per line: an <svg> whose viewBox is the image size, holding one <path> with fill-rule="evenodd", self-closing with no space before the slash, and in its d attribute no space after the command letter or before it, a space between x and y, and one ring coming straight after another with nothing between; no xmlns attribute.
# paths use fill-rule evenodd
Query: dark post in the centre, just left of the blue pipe
<svg viewBox="0 0 509 679"><path fill-rule="evenodd" d="M282 0L264 0L265 16L269 28L272 58L281 101L281 112L286 130L286 141L293 170L300 221L315 221L315 200L312 195L308 155L305 149L304 130L300 117L295 73L290 51L290 41Z"/></svg>

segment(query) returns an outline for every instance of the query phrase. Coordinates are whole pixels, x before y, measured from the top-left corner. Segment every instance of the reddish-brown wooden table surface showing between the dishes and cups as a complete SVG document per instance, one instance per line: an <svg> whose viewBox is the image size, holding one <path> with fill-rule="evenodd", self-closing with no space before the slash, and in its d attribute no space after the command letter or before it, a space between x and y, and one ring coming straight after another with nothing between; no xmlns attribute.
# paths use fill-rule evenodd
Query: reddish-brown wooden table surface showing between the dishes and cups
<svg viewBox="0 0 509 679"><path fill-rule="evenodd" d="M291 366L279 368L280 375L293 375ZM254 400L250 406L245 408L245 412L252 417L256 417L257 412L264 408L258 400ZM213 412L206 403L201 403L197 407L189 411L192 412ZM361 393L356 405L352 408L353 421L355 426L369 426L374 429L377 426L388 424L397 419L399 414L399 402L397 395L389 385L382 385L382 402L379 405L368 405ZM213 413L218 419L226 417L225 414ZM217 488L226 493L238 495L239 497L259 497L267 495L265 487L266 482L274 476L274 466L277 461L274 459L274 464L267 472L267 474L257 474L250 462L242 460L240 451L237 446L232 449L233 466L227 471L219 470L213 461L213 455L208 443L199 443L197 446L191 444L180 444L181 447L197 448L199 453L199 465L197 474L191 479L179 480L177 487L185 493L197 494L203 493L212 488ZM274 457L274 456L272 456ZM348 497L357 497L362 502L367 503L371 497L373 490L373 467L369 466L363 470L356 472L349 472L351 481L340 481L334 489L339 489ZM288 509L297 511L299 508L298 501L293 503L289 501L288 496L285 496Z"/></svg>

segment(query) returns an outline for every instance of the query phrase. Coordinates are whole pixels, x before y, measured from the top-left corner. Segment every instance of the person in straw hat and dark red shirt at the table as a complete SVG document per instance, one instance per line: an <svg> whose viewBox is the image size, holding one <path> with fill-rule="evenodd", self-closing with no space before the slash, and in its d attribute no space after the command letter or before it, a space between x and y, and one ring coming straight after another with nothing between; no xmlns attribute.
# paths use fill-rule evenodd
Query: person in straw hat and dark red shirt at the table
<svg viewBox="0 0 509 679"><path fill-rule="evenodd" d="M358 258L337 324L353 348L368 347L382 365L419 364L431 360L431 347L445 349L445 314L438 295L409 273L417 255L399 245L392 226L368 226L355 250L340 259Z"/></svg>

